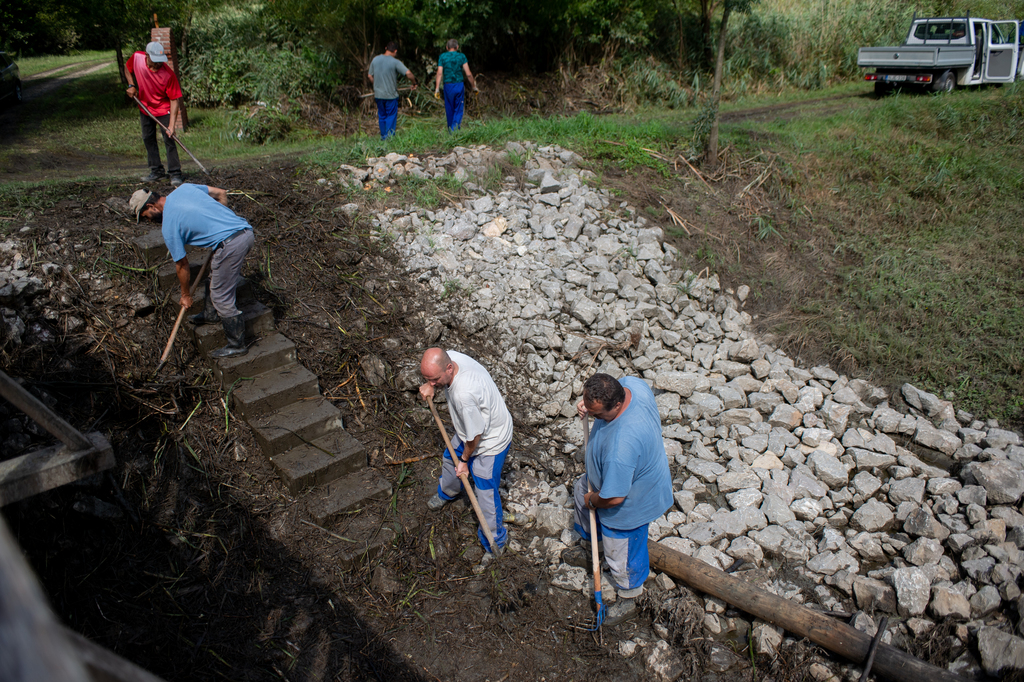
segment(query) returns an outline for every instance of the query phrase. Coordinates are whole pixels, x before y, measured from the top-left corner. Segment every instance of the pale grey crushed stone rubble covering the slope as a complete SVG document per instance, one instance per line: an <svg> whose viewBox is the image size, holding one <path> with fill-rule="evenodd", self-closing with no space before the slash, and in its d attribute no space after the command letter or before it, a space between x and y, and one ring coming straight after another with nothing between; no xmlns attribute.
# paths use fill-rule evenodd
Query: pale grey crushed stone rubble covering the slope
<svg viewBox="0 0 1024 682"><path fill-rule="evenodd" d="M372 221L412 278L439 299L461 295L450 319L426 321L428 342L444 325L470 337L494 332L498 347L480 359L520 397L517 416L538 428L503 483L507 508L535 519L531 537L512 549L546 565L553 586L589 593L589 572L560 559L578 538L574 403L595 372L640 376L656 395L674 476L675 505L651 523L651 540L721 569L740 561L763 569L772 577L764 589L856 611L853 625L870 635L887 615L886 643L952 619L948 667L966 677L1024 669L1021 436L910 384L890 395L760 342L743 311L750 289L723 290L715 273L679 267L662 228L592 186L582 161L524 141L441 158L390 154L338 175L366 186L450 174L471 197L443 209L388 209ZM478 184L509 164L520 175L489 190ZM399 369L397 381L418 386L416 365ZM607 577L602 587L614 601ZM648 589L668 610L682 599L664 573L652 573ZM793 643L767 623L728 615L724 602L702 601L717 670L741 665L721 642L749 628L758 652ZM642 650L655 679L682 672L666 638L618 650ZM818 680L859 676L825 658L814 667Z"/></svg>

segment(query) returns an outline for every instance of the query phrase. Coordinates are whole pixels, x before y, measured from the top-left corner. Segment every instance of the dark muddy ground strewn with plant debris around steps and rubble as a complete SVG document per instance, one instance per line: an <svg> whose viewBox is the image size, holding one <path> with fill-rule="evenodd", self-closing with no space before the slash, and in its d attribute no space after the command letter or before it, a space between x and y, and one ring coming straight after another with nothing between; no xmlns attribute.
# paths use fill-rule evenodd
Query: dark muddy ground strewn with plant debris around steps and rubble
<svg viewBox="0 0 1024 682"><path fill-rule="evenodd" d="M762 319L784 312L793 288L828 276L826 258L751 239L755 216L790 217L770 155L741 160L727 150L722 170L708 177L678 162L668 177L627 172L613 159L609 148L593 160L605 185L673 228L688 267L714 271L716 263L701 261L702 245L714 242L735 252L735 263L717 264L725 286L765 282L769 266L792 275L786 291L769 288L752 299L748 310ZM755 191L741 193L758 178ZM617 650L637 637L670 641L685 679L796 681L813 660L828 659L799 643L774 660L751 659L748 643L733 642L723 664L702 638L702 609L686 590L671 600L648 598L642 617L605 628L602 639L587 630L591 602L549 590L546 568L509 553L474 573L472 511L424 507L437 460L395 464L440 451L429 412L412 393L370 385L357 365L370 351L395 370L417 363L431 318L445 323L441 344L471 353L501 330L460 338L446 324L458 298L425 295L370 239L367 216L412 201L400 186L384 200L355 198L287 163L221 169L214 181L232 191L232 206L256 228L258 253L245 272L257 298L273 309L279 330L296 342L395 493L328 529L310 525L248 429L225 411L185 338L151 379L176 309L130 246L141 229L122 202L137 186L113 177L28 190L16 206L0 206L0 227L31 244L34 261L70 269L56 272L50 294L30 306L24 343L0 340L0 369L25 378L76 427L106 434L117 457L109 473L3 510L67 625L167 680L648 679L641 654ZM335 211L353 200L365 203L354 219ZM668 209L682 219L681 230ZM138 292L154 310L135 314L129 301ZM805 358L828 356L813 344L801 350ZM517 417L515 400L509 403ZM5 433L19 429L25 447L46 442L24 418L0 410ZM517 440L529 433L521 422L516 427ZM534 466L528 449L516 447L507 475ZM340 569L334 559L346 528L371 512L404 531L380 556ZM510 527L523 545L532 535Z"/></svg>

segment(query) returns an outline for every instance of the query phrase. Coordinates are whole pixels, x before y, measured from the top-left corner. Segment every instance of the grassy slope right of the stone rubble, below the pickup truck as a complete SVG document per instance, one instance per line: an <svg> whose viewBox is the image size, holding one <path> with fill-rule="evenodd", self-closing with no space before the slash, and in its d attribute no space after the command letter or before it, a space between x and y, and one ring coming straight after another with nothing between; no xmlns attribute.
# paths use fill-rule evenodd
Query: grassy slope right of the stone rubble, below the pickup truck
<svg viewBox="0 0 1024 682"><path fill-rule="evenodd" d="M813 226L781 239L819 266L776 287L773 331L1021 426L1024 88L893 96L732 139L752 129L788 163L794 224Z"/></svg>

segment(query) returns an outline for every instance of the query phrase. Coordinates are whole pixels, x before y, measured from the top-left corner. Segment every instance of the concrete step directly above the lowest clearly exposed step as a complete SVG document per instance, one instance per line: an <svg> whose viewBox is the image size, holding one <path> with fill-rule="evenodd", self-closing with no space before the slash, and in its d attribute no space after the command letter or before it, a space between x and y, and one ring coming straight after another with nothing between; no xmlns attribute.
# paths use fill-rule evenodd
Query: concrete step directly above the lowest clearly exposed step
<svg viewBox="0 0 1024 682"><path fill-rule="evenodd" d="M292 495L310 485L329 483L367 466L367 449L344 430L337 429L270 458L281 480Z"/></svg>

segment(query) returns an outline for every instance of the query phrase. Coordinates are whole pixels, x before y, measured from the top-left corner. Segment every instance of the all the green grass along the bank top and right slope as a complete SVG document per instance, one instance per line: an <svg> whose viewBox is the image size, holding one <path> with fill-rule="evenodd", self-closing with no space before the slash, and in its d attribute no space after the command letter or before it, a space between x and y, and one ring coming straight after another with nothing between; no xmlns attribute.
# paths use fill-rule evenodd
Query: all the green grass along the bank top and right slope
<svg viewBox="0 0 1024 682"><path fill-rule="evenodd" d="M723 145L733 158L777 159L773 206L746 231L746 245L687 237L683 264L694 271L709 266L730 282L751 285L765 313L764 331L794 352L883 384L911 381L957 408L1021 426L1024 159L1017 151L1024 135L1024 89L827 100L858 88L866 95L866 86L857 84L819 92L817 98L826 101L813 106L800 103L806 94L726 104L727 112L783 106L778 115L722 127ZM183 140L211 168L298 163L330 178L339 164L358 165L393 151L425 154L530 139L593 160L598 172L625 178L625 194L636 172L631 201L670 229L648 190L689 197L688 219L695 222L708 219L716 202L723 214L735 213L738 200L728 194L727 177L709 197L699 183L685 185L693 180L688 170L646 151L670 157L687 152L692 113L472 117L449 135L442 112L430 106L418 115L403 110L398 134L387 142L376 134L375 113L367 111L356 119L364 132L331 137L296 128L263 145L239 135L252 110L194 109ZM65 164L61 180L142 169L137 114L123 101L113 73L29 101L25 114L14 143L0 151L0 167L28 158L31 147L50 157L101 161ZM182 162L190 179L202 179L184 155ZM28 186L8 184L0 201L16 212L27 205L22 196ZM427 181L395 194L429 205L451 191ZM740 247L748 246L756 248L740 259Z"/></svg>

